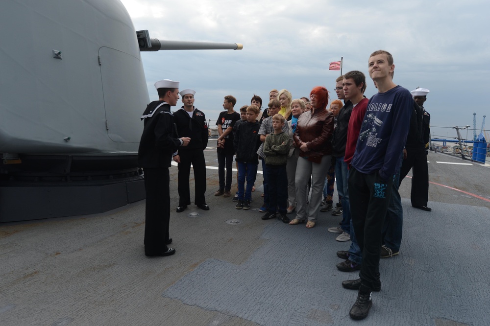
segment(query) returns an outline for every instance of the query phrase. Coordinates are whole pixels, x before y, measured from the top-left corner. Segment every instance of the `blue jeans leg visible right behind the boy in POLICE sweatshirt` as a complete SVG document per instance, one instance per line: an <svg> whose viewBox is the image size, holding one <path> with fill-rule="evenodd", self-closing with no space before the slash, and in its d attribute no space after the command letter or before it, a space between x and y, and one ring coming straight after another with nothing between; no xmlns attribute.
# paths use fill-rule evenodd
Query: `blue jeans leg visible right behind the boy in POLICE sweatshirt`
<svg viewBox="0 0 490 326"><path fill-rule="evenodd" d="M403 162L403 156L401 162ZM390 248L393 253L400 251L403 229L403 208L401 207L401 197L398 192L399 179L400 169L398 168L393 176L392 198L386 212L383 232L381 233L383 244Z"/></svg>

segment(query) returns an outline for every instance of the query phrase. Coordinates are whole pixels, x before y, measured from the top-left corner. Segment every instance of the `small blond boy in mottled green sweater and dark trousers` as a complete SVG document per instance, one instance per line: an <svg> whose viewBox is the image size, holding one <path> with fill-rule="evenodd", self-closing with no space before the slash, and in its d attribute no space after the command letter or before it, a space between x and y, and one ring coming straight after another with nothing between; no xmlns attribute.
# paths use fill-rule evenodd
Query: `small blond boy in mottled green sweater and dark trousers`
<svg viewBox="0 0 490 326"><path fill-rule="evenodd" d="M269 220L276 217L284 223L289 223L286 216L288 201L288 178L286 177L286 163L290 149L289 135L282 131L284 117L280 114L272 116L272 128L274 133L267 135L264 142L264 154L266 156L267 175L269 176L269 211L262 217Z"/></svg>

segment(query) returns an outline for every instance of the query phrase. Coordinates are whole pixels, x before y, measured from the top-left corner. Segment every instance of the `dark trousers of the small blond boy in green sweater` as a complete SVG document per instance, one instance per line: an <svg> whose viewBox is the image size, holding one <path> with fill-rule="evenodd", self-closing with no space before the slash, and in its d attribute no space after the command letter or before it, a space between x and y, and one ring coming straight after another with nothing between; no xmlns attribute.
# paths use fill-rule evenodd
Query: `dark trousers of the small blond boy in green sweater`
<svg viewBox="0 0 490 326"><path fill-rule="evenodd" d="M269 212L276 210L286 214L288 205L288 178L286 176L286 165L267 165L269 177Z"/></svg>

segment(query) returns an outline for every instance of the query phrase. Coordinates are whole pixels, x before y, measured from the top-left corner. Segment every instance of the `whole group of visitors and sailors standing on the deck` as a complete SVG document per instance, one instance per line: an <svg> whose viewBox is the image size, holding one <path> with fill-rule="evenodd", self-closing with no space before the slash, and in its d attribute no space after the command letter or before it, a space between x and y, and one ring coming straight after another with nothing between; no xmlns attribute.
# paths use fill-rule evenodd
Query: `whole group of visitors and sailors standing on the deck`
<svg viewBox="0 0 490 326"><path fill-rule="evenodd" d="M291 226L305 223L311 229L320 211L342 215L339 226L328 231L338 233L338 241L351 241L348 250L337 252L344 259L337 268L360 271L359 279L342 282L344 288L358 290L349 312L353 319L368 316L371 293L381 289L380 257L399 253L403 215L398 193L400 166L405 166L402 178L413 166L414 179L414 162L425 160L427 166L427 153L425 147L421 148L423 121L428 114L424 114L421 104L429 91L417 89L411 94L395 85L393 58L384 50L369 56L368 71L378 89L370 99L364 96L364 73L353 70L337 78L338 99L330 105L329 92L319 86L308 97L296 99L288 90L274 89L264 110L262 98L254 94L250 105L242 106L240 113L234 110L237 99L227 95L222 104L225 110L216 122L219 189L215 196L232 196L235 158L238 188L231 200L236 209L250 209L260 161L263 203L259 211L264 213L263 220L278 218ZM194 90L180 92L183 106L172 114L170 108L179 98L179 83L163 80L155 87L159 101L150 103L142 116L145 128L139 150L147 191L145 253L170 256L175 249L167 246L172 243L168 168L173 158L178 163L176 211L191 205L191 164L196 183L194 204L209 210L204 195L203 154L208 126L204 113L194 107ZM428 189L427 168L417 167L418 173L423 176L417 175L417 183L426 183ZM334 209L335 180L339 203ZM430 210L427 196L428 191L420 194L413 188L412 205ZM288 215L293 213L290 219Z"/></svg>

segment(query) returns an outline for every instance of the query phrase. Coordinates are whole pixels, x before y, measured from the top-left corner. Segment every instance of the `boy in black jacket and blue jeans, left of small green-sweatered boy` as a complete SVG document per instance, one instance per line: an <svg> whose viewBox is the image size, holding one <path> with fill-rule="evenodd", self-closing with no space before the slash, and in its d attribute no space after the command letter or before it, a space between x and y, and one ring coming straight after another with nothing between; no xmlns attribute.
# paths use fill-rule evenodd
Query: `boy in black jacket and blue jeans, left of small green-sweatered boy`
<svg viewBox="0 0 490 326"><path fill-rule="evenodd" d="M247 107L247 121L240 123L237 127L233 140L236 151L235 161L238 163L238 203L235 206L237 210L250 209L253 181L259 165L257 149L260 146L260 123L256 121L259 112L260 109L255 105Z"/></svg>

